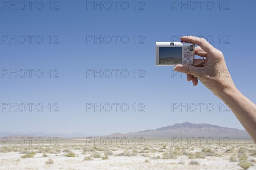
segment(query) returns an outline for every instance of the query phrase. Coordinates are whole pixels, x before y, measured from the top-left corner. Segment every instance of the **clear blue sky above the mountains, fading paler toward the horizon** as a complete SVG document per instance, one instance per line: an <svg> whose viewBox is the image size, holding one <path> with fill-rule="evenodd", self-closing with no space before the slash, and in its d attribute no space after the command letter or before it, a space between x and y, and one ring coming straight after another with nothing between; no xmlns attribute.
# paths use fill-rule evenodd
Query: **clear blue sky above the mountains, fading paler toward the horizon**
<svg viewBox="0 0 256 170"><path fill-rule="evenodd" d="M94 1L84 0L51 1L51 6L43 0L41 10L40 2L37 6L32 4L31 9L26 4L24 10L19 1L17 9L6 5L6 1L0 2L1 104L21 104L19 110L23 103L34 104L32 112L28 108L24 112L10 112L1 107L1 131L70 130L104 135L185 121L243 129L231 111L224 112L223 102L201 83L193 87L185 75L173 72L172 66L155 66L155 42L177 41L183 35L205 37L221 50L236 86L256 102L254 0L205 1L201 8L198 1L194 1L198 3L196 8L187 1L187 9L177 5L180 1L171 0L118 1L116 9L115 4L108 9L109 4L97 1L102 2L102 10L100 6L94 9L95 4L90 6ZM14 40L9 42L9 35ZM15 69L19 75L9 78L9 70ZM26 76L20 78L23 69ZM28 69L34 69L31 78ZM96 74L95 78L94 72L101 69L104 75L100 78ZM37 78L35 70L38 77L43 72L43 77ZM107 78L109 70L111 77ZM129 109L87 112L91 103L102 103L106 108L108 104L113 107L113 103L127 104ZM202 111L200 103L204 104ZM36 104L44 106L42 112L35 110ZM179 108L172 112L175 104L188 104L191 108L187 112L180 112ZM192 112L195 105L198 108ZM214 109L207 111L206 105ZM56 107L59 112L52 112ZM144 112L138 112L139 108Z"/></svg>

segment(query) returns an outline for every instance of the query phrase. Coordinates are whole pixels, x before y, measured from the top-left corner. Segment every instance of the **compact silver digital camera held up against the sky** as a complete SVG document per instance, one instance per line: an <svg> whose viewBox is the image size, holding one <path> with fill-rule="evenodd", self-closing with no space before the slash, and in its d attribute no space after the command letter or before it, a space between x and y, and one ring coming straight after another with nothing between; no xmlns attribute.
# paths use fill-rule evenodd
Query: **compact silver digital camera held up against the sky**
<svg viewBox="0 0 256 170"><path fill-rule="evenodd" d="M156 66L194 65L195 44L188 42L156 42Z"/></svg>

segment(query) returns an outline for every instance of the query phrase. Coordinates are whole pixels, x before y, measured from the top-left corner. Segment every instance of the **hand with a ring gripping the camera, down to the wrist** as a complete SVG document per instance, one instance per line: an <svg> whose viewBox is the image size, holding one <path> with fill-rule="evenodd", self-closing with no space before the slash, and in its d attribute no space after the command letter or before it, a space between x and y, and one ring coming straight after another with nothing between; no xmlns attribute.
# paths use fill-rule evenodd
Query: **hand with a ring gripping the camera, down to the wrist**
<svg viewBox="0 0 256 170"><path fill-rule="evenodd" d="M187 74L187 81L192 80L193 85L196 86L199 79L217 96L223 92L236 90L221 51L215 49L204 38L185 36L180 37L180 40L197 44L195 55L206 58L195 59L194 66L187 64L175 66L176 71Z"/></svg>

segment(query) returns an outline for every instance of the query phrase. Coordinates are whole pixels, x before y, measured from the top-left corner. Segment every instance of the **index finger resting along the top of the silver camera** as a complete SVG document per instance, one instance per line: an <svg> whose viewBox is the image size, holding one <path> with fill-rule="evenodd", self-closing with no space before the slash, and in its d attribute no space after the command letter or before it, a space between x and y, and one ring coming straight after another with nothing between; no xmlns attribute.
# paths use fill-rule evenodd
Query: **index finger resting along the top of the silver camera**
<svg viewBox="0 0 256 170"><path fill-rule="evenodd" d="M209 42L207 42L207 40L205 40L204 38L199 38L199 37L190 35L190 36L180 37L180 40L197 44L207 53L211 53L215 51L215 48Z"/></svg>

